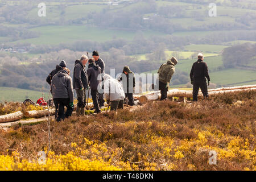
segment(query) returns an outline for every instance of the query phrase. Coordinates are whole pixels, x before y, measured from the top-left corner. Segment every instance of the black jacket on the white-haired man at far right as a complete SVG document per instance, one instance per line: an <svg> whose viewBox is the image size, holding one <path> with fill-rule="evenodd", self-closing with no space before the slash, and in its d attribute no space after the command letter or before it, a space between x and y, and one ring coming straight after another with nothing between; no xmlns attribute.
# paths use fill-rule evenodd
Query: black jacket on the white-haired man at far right
<svg viewBox="0 0 256 182"><path fill-rule="evenodd" d="M197 60L191 69L190 72L190 80L191 81L210 81L209 73L208 73L208 66L203 60Z"/></svg>

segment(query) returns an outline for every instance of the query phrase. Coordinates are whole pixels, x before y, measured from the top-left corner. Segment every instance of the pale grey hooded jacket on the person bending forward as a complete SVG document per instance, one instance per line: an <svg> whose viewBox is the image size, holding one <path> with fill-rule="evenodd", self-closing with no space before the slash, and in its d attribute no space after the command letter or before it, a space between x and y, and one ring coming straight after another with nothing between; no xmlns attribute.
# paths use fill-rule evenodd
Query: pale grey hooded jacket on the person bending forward
<svg viewBox="0 0 256 182"><path fill-rule="evenodd" d="M121 101L125 99L122 84L110 75L104 75L104 97L106 100Z"/></svg>

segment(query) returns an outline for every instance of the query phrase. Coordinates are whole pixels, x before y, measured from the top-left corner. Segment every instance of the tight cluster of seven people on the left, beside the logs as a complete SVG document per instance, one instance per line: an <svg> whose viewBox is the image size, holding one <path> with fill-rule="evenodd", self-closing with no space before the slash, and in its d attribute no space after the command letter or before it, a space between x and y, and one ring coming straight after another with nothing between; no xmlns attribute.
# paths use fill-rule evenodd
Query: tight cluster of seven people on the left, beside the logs
<svg viewBox="0 0 256 182"><path fill-rule="evenodd" d="M110 106L110 110L123 109L123 101L126 97L129 100L129 105L135 105L133 97L135 78L130 68L125 66L122 75L116 80L105 74L105 63L100 58L98 51L93 51L92 56L89 59L88 56L82 55L80 60L75 61L73 82L69 76L70 70L64 60L49 73L46 81L51 85L51 93L56 108L55 117L58 122L70 117L73 112L73 89L76 90L77 94L77 116L85 115L85 107L88 104L86 103L86 90L91 91L94 113L96 114L101 113L101 108L105 106L105 100ZM86 70L87 63L88 69ZM130 81L133 84L130 84ZM65 107L67 107L66 112L64 111Z"/></svg>

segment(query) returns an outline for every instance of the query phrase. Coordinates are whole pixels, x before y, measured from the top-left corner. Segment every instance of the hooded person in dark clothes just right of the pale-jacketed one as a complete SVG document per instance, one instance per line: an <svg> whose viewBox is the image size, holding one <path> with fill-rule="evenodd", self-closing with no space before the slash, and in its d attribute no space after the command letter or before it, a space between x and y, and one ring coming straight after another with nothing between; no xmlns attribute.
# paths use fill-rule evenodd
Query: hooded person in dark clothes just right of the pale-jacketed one
<svg viewBox="0 0 256 182"><path fill-rule="evenodd" d="M125 97L128 98L128 105L134 106L134 88L135 88L135 77L134 73L131 72L129 66L123 67L123 73L120 77L120 81L123 84L123 90L125 91Z"/></svg>

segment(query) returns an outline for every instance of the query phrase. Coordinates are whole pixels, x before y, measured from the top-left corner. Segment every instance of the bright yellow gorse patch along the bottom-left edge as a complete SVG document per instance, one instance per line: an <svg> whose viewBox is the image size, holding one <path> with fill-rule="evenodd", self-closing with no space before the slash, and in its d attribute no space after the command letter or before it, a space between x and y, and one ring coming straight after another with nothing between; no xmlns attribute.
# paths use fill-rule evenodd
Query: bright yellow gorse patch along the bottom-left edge
<svg viewBox="0 0 256 182"><path fill-rule="evenodd" d="M38 161L28 162L27 159L20 160L19 154L14 152L11 156L0 155L0 170L118 171L120 169L110 166L102 160L81 159L75 156L73 152L69 152L67 155L55 155L53 152L49 152L46 161L43 163Z"/></svg>

